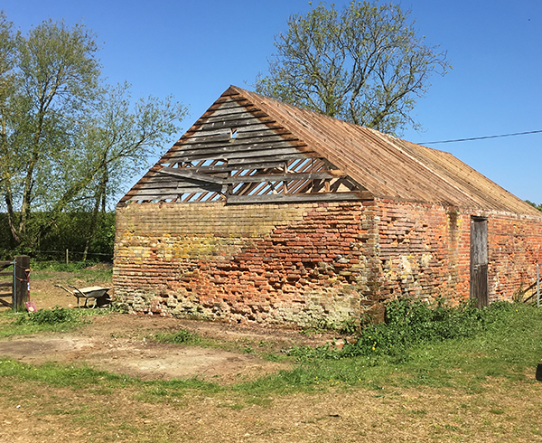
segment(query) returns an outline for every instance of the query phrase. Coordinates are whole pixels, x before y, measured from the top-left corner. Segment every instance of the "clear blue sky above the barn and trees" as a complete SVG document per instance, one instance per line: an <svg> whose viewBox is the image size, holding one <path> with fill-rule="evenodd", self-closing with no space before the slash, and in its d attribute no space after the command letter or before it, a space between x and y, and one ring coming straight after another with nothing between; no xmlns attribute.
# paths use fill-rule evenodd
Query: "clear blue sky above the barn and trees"
<svg viewBox="0 0 542 443"><path fill-rule="evenodd" d="M418 101L416 120L424 131L408 130L404 138L420 143L542 130L542 1L400 5L453 65L446 76L432 78ZM49 18L87 25L102 46L107 81L127 80L134 98L173 95L190 108L186 129L230 84L252 89L274 52L274 36L285 31L291 14L310 6L305 0L3 0L0 9L23 33ZM427 146L542 203L542 133Z"/></svg>

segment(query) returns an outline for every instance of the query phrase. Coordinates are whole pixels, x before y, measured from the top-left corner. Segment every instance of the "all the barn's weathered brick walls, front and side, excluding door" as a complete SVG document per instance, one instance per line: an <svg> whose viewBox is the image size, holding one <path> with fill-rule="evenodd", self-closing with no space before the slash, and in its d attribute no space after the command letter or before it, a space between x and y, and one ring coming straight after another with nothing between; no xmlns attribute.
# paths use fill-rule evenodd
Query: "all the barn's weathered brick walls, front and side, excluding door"
<svg viewBox="0 0 542 443"><path fill-rule="evenodd" d="M534 278L539 219L378 199L119 207L116 294L138 312L304 326L389 297L459 301L471 215L489 220L490 298L509 298Z"/></svg>

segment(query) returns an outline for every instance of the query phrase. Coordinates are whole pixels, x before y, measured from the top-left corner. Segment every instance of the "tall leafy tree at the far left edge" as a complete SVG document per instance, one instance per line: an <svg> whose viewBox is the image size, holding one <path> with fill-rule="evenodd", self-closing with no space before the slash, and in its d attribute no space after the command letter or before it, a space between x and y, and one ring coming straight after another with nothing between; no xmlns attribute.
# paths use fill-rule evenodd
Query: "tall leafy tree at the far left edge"
<svg viewBox="0 0 542 443"><path fill-rule="evenodd" d="M50 202L62 159L73 147L74 122L98 96L98 47L87 30L44 22L14 39L13 88L5 104L3 192L16 243L27 233L31 207ZM15 206L19 206L15 214ZM15 218L18 216L18 223Z"/></svg>

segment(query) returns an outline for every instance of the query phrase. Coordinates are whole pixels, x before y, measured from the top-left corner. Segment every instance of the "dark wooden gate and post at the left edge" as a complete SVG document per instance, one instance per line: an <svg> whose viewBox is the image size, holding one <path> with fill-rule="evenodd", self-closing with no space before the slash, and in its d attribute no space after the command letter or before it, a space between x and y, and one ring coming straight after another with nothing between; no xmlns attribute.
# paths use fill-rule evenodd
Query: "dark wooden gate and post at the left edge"
<svg viewBox="0 0 542 443"><path fill-rule="evenodd" d="M10 269L11 268L11 269ZM13 261L0 261L0 305L22 309L28 301L30 257L19 255ZM11 299L11 303L5 298Z"/></svg>

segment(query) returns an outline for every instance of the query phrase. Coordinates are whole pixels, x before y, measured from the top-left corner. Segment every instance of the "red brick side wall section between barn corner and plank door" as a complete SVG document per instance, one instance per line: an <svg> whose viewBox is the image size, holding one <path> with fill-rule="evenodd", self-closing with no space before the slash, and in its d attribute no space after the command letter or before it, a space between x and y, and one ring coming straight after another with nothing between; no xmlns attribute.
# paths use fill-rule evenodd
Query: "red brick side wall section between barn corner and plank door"
<svg viewBox="0 0 542 443"><path fill-rule="evenodd" d="M461 212L383 200L377 222L380 297L468 296L470 228Z"/></svg>

